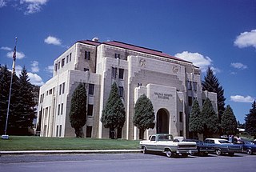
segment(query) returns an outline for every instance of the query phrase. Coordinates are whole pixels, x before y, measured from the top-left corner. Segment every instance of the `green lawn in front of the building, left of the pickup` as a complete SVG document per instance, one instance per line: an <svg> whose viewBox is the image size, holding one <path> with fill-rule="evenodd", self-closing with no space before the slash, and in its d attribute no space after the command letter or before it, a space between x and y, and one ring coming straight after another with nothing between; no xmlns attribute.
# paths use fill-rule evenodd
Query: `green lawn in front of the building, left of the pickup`
<svg viewBox="0 0 256 172"><path fill-rule="evenodd" d="M10 136L0 139L0 150L136 150L139 141L96 138L40 138Z"/></svg>

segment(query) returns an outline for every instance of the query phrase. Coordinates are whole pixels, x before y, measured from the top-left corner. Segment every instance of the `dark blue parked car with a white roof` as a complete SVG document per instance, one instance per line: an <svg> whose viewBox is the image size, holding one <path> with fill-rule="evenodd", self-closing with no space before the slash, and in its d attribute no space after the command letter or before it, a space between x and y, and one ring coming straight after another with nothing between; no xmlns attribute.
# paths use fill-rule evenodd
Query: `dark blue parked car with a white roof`
<svg viewBox="0 0 256 172"><path fill-rule="evenodd" d="M213 147L217 155L229 154L233 156L235 152L242 152L242 146L233 144L222 138L206 138L204 145Z"/></svg>

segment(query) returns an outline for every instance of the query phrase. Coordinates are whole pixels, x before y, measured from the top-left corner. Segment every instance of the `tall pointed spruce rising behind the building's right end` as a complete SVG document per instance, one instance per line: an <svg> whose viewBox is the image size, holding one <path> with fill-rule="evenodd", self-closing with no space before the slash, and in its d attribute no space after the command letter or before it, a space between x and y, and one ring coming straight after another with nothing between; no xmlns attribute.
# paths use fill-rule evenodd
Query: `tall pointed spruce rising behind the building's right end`
<svg viewBox="0 0 256 172"><path fill-rule="evenodd" d="M218 115L221 118L225 110L226 98L224 97L224 90L222 89L222 86L219 85L218 78L215 77L214 71L211 70L210 67L208 67L204 79L205 81L202 81L202 90L217 93Z"/></svg>

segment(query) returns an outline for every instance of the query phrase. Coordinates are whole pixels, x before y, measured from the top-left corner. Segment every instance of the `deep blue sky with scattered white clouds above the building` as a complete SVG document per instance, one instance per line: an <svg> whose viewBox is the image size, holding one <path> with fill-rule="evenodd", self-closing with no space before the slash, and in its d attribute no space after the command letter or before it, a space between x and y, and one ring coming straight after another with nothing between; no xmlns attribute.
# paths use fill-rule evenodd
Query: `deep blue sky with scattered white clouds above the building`
<svg viewBox="0 0 256 172"><path fill-rule="evenodd" d="M98 37L162 50L208 66L244 122L256 98L256 0L0 0L0 64L26 66L38 86L78 40Z"/></svg>

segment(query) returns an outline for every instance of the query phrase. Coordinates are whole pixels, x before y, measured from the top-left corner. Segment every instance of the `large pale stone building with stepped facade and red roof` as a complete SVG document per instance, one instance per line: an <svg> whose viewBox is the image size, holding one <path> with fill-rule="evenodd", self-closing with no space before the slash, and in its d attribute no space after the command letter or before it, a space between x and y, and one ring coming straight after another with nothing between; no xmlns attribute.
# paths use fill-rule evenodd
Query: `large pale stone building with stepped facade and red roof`
<svg viewBox="0 0 256 172"><path fill-rule="evenodd" d="M133 124L134 105L142 94L154 106L155 127L150 134L169 133L188 136L188 120L194 98L199 105L210 98L217 112L215 93L202 91L201 71L192 62L124 42L75 42L54 60L53 78L41 86L38 126L42 137L74 137L70 125L72 94L82 82L87 92L87 138L109 138L110 130L100 121L102 110L116 82L126 109L126 122L116 130L118 138L138 139Z"/></svg>

